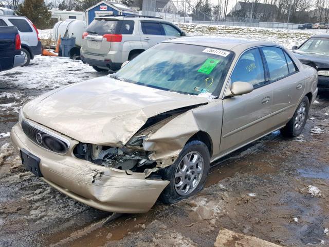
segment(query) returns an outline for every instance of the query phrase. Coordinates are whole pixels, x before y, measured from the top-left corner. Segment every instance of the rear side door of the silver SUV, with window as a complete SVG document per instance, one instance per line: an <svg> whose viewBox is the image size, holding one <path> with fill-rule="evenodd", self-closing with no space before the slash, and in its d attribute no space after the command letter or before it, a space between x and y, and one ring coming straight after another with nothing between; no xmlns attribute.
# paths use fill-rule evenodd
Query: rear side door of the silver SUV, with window
<svg viewBox="0 0 329 247"><path fill-rule="evenodd" d="M140 37L145 50L167 39L159 21L141 21L140 24Z"/></svg>

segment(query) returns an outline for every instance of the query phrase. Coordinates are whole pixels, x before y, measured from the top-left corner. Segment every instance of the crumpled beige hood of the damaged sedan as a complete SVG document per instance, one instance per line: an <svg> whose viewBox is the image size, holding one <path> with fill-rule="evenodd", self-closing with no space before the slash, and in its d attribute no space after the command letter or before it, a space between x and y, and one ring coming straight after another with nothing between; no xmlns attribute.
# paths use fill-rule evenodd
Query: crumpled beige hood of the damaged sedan
<svg viewBox="0 0 329 247"><path fill-rule="evenodd" d="M208 101L104 76L35 98L23 114L83 143L122 146L148 118Z"/></svg>

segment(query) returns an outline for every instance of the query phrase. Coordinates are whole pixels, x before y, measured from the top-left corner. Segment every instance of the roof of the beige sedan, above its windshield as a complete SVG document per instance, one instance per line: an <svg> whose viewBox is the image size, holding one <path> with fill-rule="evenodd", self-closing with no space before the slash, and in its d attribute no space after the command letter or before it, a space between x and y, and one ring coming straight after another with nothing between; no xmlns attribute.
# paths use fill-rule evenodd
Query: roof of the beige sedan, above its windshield
<svg viewBox="0 0 329 247"><path fill-rule="evenodd" d="M225 38L218 36L187 36L177 39L166 40L163 41L163 43L179 43L179 44L207 46L212 48L231 50L236 53L243 52L244 50L255 46L262 46L262 45L280 46L273 42L252 41L246 39Z"/></svg>

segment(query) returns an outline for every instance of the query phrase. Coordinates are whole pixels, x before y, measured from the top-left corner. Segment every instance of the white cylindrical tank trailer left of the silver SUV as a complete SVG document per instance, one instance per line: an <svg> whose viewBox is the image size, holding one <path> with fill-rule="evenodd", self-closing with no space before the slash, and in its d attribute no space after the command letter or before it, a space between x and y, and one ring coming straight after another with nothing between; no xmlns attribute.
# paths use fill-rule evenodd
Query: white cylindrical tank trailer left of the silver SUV
<svg viewBox="0 0 329 247"><path fill-rule="evenodd" d="M69 55L71 59L80 59L80 48L82 45L82 34L87 28L87 23L80 20L67 19L59 21L52 29L52 34L56 43L59 37L76 37L76 46L71 48Z"/></svg>

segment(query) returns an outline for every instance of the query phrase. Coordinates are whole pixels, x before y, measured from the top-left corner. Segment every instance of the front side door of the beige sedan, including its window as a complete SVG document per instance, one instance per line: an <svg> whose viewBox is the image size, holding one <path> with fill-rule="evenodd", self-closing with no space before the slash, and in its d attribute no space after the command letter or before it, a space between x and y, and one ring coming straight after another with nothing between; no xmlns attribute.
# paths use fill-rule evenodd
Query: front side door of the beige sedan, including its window
<svg viewBox="0 0 329 247"><path fill-rule="evenodd" d="M248 82L254 90L223 99L221 154L252 142L271 129L272 86L265 76L259 48L246 51L237 61L230 83L235 81Z"/></svg>

